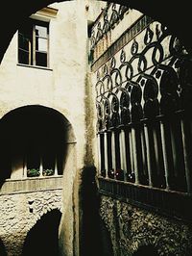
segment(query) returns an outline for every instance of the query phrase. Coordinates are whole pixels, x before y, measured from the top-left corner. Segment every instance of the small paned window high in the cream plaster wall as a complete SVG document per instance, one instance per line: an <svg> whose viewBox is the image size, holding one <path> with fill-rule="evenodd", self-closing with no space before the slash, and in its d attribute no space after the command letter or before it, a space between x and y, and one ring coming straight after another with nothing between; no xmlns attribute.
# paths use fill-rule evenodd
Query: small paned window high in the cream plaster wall
<svg viewBox="0 0 192 256"><path fill-rule="evenodd" d="M49 23L29 18L18 30L18 63L49 66Z"/></svg>

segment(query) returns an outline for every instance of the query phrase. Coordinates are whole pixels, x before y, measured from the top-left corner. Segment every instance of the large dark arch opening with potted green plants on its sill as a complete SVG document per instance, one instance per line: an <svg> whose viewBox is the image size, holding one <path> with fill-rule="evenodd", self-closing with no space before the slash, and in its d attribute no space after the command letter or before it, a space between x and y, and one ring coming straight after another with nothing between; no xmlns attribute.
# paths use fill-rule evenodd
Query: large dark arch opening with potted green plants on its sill
<svg viewBox="0 0 192 256"><path fill-rule="evenodd" d="M42 106L21 107L3 116L1 180L61 175L68 141L74 140L70 127L63 115Z"/></svg>

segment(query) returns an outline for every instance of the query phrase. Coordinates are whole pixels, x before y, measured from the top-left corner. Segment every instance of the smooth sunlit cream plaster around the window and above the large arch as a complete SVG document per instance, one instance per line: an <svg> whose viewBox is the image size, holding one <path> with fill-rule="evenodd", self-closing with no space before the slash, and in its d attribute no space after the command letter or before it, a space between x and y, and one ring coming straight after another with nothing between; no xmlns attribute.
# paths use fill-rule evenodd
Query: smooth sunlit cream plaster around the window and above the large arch
<svg viewBox="0 0 192 256"><path fill-rule="evenodd" d="M17 33L0 68L0 117L26 105L53 108L72 124L78 141L78 166L84 165L84 79L86 20L84 1L53 4L50 69L17 64Z"/></svg>

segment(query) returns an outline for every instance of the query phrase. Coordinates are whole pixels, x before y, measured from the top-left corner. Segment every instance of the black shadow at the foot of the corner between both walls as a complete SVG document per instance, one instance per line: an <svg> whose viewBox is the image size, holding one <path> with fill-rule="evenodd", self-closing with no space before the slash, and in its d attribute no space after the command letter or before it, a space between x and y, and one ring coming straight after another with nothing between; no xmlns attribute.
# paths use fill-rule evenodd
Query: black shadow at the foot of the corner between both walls
<svg viewBox="0 0 192 256"><path fill-rule="evenodd" d="M105 223L100 218L100 196L94 166L84 167L82 183L83 230L81 255L113 256L112 243Z"/></svg>

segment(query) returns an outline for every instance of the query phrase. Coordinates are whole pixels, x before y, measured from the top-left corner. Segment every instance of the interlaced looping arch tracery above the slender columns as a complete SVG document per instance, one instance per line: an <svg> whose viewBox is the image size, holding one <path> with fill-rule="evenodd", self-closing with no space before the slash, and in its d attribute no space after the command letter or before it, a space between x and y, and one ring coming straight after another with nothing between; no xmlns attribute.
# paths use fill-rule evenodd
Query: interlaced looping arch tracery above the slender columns
<svg viewBox="0 0 192 256"><path fill-rule="evenodd" d="M179 40L169 35L167 28L160 24L154 27L154 31L146 28L143 41L132 40L128 48L131 55L124 47L110 59L109 70L107 64L98 70L99 81L107 86L101 83L100 89L97 87L97 97L113 95L108 101L111 110L108 127L174 113L183 105L188 106L186 102L192 102L192 62L184 57Z"/></svg>

